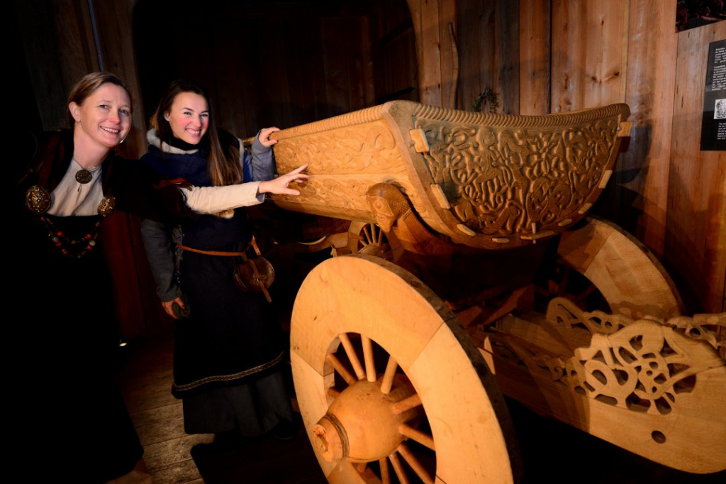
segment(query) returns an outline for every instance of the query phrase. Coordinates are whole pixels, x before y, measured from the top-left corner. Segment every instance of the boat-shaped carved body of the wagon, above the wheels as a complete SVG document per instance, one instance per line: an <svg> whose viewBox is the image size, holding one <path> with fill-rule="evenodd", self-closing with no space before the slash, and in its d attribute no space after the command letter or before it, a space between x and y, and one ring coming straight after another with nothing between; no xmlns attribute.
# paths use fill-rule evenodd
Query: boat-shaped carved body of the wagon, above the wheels
<svg viewBox="0 0 726 484"><path fill-rule="evenodd" d="M367 189L395 185L428 227L481 249L522 246L582 219L612 173L627 105L546 116L394 101L285 129L280 172L309 164L293 211L375 222ZM625 126L628 126L626 123Z"/></svg>

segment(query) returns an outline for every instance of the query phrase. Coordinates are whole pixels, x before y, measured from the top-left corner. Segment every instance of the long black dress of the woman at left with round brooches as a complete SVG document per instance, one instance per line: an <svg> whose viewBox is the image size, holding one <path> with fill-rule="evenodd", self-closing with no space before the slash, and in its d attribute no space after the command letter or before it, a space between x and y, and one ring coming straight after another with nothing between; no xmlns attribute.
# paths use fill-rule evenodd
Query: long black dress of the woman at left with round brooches
<svg viewBox="0 0 726 484"><path fill-rule="evenodd" d="M9 302L17 316L6 339L15 355L6 380L15 431L7 442L15 454L9 461L26 482L99 484L130 472L144 453L114 379L119 327L99 246L105 219L28 209L27 188L52 192L73 153L71 133L38 140L12 211ZM120 202L120 187L133 191L127 183L139 175L136 164L109 156L104 193L119 188Z"/></svg>

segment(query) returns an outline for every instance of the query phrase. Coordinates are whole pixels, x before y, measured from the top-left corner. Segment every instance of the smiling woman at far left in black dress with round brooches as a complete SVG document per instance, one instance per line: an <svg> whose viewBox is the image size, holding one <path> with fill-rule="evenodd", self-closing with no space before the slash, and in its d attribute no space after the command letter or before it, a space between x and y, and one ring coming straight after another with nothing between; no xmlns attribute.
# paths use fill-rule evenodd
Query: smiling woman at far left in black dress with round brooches
<svg viewBox="0 0 726 484"><path fill-rule="evenodd" d="M68 112L73 128L36 136L17 183L12 301L23 318L10 341L28 363L12 375L23 422L13 445L36 449L21 467L30 482L150 483L114 381L120 332L101 243L108 216L134 211L129 190L143 187L133 186L138 161L115 153L131 129L131 93L111 73L90 73L71 89Z"/></svg>

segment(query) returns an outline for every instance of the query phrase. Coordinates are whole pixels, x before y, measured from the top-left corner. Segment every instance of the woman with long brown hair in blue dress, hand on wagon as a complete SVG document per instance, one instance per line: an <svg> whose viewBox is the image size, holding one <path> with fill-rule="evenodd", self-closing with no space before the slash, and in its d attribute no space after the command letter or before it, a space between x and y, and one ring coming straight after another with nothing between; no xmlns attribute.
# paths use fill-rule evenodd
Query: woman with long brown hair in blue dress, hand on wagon
<svg viewBox="0 0 726 484"><path fill-rule="evenodd" d="M264 201L274 180L276 127L261 129L248 153L215 125L205 89L184 80L168 86L151 125L142 162L158 174L193 187L247 186L248 205ZM161 303L178 318L172 392L183 403L184 429L215 434L222 451L245 437L293 432L280 325L261 294L240 291L233 280L251 229L243 208L142 226ZM180 310L188 316L179 318Z"/></svg>

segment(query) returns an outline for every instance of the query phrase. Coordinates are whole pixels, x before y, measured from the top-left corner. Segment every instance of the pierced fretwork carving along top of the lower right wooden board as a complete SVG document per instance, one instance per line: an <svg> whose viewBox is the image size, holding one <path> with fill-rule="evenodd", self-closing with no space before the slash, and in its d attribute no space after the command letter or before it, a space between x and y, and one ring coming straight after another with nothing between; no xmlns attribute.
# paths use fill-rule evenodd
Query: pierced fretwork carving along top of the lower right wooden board
<svg viewBox="0 0 726 484"><path fill-rule="evenodd" d="M703 315L714 326L726 326L726 313ZM649 414L669 414L678 405L678 395L698 387L698 374L725 365L714 345L714 336L691 337L682 330L693 326L695 318L671 321L632 320L605 312L583 312L573 302L555 298L547 308L547 322L568 331L587 330L588 347L577 347L571 357L538 352L534 345L497 339L530 368L537 366L552 380L566 384L571 391L612 406ZM698 325L698 323L696 323ZM721 342L722 344L723 342ZM499 347L499 356L512 353Z"/></svg>

